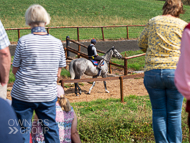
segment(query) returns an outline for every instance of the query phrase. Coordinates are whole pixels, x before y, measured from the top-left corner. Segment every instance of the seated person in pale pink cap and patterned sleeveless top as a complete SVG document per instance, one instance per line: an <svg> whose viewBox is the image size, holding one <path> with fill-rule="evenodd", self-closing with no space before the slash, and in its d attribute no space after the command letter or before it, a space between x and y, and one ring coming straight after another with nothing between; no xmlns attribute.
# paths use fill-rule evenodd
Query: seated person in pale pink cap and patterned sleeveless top
<svg viewBox="0 0 190 143"><path fill-rule="evenodd" d="M56 122L59 127L60 143L80 143L80 137L77 132L77 116L69 100L64 97L63 88L58 85L58 100L56 102ZM35 115L32 123L32 140L33 143L45 143L41 123Z"/></svg>

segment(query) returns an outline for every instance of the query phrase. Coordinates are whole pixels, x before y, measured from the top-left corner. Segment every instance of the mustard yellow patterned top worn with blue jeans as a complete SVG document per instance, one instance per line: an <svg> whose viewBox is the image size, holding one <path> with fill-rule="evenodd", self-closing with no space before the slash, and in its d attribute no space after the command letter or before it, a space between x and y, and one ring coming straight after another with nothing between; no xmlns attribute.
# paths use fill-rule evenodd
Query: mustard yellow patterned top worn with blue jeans
<svg viewBox="0 0 190 143"><path fill-rule="evenodd" d="M144 71L176 69L186 25L185 21L172 16L156 16L149 20L138 39L138 46L146 53Z"/></svg>

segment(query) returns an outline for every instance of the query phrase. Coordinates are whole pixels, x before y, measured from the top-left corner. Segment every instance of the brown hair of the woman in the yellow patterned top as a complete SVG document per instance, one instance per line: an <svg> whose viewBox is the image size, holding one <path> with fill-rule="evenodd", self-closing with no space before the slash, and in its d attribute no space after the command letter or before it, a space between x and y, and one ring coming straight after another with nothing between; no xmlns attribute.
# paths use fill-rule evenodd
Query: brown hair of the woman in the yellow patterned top
<svg viewBox="0 0 190 143"><path fill-rule="evenodd" d="M185 13L181 0L166 0L162 10L163 15L170 14L174 17L179 17L180 14Z"/></svg>

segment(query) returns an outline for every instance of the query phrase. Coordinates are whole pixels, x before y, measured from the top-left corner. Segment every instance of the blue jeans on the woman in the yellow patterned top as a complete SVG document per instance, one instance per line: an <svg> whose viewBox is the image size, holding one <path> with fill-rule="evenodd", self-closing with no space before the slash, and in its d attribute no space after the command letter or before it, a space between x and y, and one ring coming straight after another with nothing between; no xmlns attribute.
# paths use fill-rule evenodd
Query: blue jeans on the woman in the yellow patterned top
<svg viewBox="0 0 190 143"><path fill-rule="evenodd" d="M156 143L181 143L181 109L183 96L174 84L174 69L145 72L144 85L152 105L152 122Z"/></svg>

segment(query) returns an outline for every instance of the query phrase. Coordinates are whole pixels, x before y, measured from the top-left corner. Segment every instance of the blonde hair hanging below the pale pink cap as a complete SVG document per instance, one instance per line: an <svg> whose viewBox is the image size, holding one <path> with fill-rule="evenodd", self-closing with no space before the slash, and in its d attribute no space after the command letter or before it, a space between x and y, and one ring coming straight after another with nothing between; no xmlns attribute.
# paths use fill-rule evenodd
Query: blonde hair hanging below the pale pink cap
<svg viewBox="0 0 190 143"><path fill-rule="evenodd" d="M69 100L65 97L58 97L58 103L61 106L61 109L63 111L71 111L71 105L69 103Z"/></svg>

